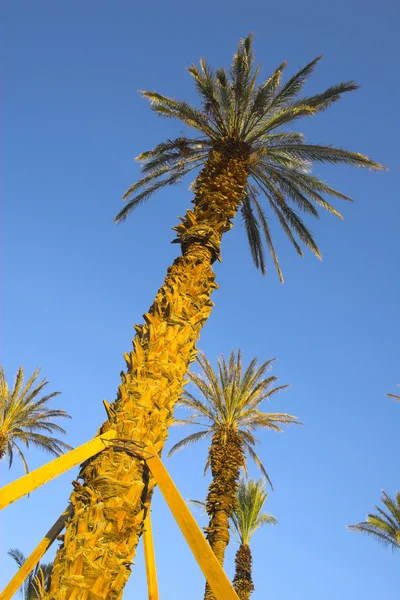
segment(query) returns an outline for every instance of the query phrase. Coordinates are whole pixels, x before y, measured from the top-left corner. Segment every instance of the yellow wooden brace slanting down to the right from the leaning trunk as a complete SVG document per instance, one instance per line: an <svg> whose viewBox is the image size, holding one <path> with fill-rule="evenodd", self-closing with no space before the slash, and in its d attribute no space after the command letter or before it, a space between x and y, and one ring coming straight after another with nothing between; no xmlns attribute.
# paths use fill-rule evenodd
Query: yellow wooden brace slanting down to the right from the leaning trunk
<svg viewBox="0 0 400 600"><path fill-rule="evenodd" d="M239 600L225 571L151 443L147 465L217 600Z"/></svg>

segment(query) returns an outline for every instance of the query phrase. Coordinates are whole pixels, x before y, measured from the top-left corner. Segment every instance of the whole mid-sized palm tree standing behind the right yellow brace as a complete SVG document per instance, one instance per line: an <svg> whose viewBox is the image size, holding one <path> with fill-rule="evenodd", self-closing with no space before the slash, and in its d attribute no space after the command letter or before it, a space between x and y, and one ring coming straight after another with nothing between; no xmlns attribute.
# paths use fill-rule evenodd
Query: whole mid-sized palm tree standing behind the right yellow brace
<svg viewBox="0 0 400 600"><path fill-rule="evenodd" d="M197 361L202 374L189 373L191 382L202 395L197 398L185 390L177 405L188 408L192 415L180 419L178 424L201 426L201 431L192 433L175 444L169 456L201 439L211 437L206 470L211 467L212 483L208 488L206 510L209 525L207 539L221 565L229 543L229 519L236 506L236 492L240 469L246 469L246 453L254 460L268 479L267 472L254 452L254 431L257 428L282 431L282 424L298 423L297 417L283 413L260 411L261 403L287 386L273 387L277 378L267 376L272 361L257 366L253 358L243 371L240 350L231 352L229 360L218 359L215 372L204 354ZM205 598L214 598L206 585Z"/></svg>

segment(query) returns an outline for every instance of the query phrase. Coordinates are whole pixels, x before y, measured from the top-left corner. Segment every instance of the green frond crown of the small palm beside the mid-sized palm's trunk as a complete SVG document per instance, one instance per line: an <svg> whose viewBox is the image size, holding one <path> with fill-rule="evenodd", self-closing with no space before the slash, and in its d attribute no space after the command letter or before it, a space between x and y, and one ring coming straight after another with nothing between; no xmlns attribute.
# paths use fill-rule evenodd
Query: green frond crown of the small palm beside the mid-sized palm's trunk
<svg viewBox="0 0 400 600"><path fill-rule="evenodd" d="M276 525L275 517L263 512L268 498L265 481L259 479L241 479L237 491L237 504L231 517L232 529L240 544L248 546L257 529L263 525Z"/></svg>

